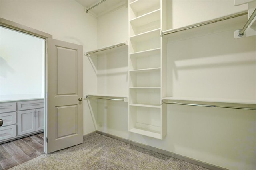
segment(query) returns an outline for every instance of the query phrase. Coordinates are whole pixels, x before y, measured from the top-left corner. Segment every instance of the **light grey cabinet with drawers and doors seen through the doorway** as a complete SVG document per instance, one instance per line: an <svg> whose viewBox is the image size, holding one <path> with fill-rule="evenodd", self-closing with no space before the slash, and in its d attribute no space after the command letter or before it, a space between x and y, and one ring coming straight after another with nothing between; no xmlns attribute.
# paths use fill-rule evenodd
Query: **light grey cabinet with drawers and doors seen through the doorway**
<svg viewBox="0 0 256 170"><path fill-rule="evenodd" d="M44 100L0 103L0 142L24 137L44 129Z"/></svg>

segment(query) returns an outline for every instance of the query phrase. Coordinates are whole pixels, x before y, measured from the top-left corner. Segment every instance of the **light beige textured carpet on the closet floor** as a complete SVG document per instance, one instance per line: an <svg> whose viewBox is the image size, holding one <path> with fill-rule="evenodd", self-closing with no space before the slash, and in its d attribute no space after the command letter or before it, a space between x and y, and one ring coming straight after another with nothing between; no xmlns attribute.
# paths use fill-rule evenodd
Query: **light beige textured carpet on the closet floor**
<svg viewBox="0 0 256 170"><path fill-rule="evenodd" d="M80 145L38 156L10 170L207 169L96 133Z"/></svg>

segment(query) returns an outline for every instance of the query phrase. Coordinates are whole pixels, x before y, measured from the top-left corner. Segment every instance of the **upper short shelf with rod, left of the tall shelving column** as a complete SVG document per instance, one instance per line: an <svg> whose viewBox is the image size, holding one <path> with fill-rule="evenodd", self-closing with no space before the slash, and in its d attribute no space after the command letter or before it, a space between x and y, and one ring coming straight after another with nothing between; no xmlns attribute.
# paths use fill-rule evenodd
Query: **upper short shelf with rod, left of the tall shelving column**
<svg viewBox="0 0 256 170"><path fill-rule="evenodd" d="M96 50L93 50L93 51L88 51L88 52L86 52L85 55L89 55L89 54L98 55L98 54L110 53L114 50L127 49L127 48L128 48L128 41L125 40L123 43L111 45L111 46L108 46L108 47L104 47L102 49L96 49Z"/></svg>

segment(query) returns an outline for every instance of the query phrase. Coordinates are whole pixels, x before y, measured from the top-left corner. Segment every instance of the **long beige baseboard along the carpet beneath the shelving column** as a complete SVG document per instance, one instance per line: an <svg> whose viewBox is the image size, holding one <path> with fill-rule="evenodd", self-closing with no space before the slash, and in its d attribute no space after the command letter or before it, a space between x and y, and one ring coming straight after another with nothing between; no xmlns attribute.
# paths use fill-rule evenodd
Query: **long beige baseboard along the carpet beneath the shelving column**
<svg viewBox="0 0 256 170"><path fill-rule="evenodd" d="M179 154L175 154L175 153L172 153L172 152L169 152L169 151L166 151L166 150L162 150L162 149L158 149L156 147L151 147L149 145L145 145L145 144L142 144L142 143L138 143L138 142L135 142L135 141L131 141L131 140L128 140L128 139L124 139L122 137L118 137L118 136L115 136L115 135L111 135L109 133L105 133L105 132L102 132L102 131L96 131L96 132L93 132L92 134L94 133L99 133L101 135L105 135L107 137L111 137L111 138L114 138L114 139L117 139L119 141L123 141L123 142L126 142L126 143L130 143L132 145L136 145L138 147L142 147L144 149L148 149L148 150L152 150L154 152L158 152L158 153L161 153L161 154L164 154L164 155L167 155L167 156L171 156L173 158L177 158L179 160L184 160L186 162L189 162L189 163L192 163L192 164L196 164L198 166L202 166L204 168L208 168L208 169L211 169L211 170L228 170L226 168L222 168L220 166L216 166L216 165L212 165L212 164L208 164L206 162L202 162L200 160L195 160L193 158L189 158L189 157L186 157L186 156L182 156L182 155L179 155Z"/></svg>

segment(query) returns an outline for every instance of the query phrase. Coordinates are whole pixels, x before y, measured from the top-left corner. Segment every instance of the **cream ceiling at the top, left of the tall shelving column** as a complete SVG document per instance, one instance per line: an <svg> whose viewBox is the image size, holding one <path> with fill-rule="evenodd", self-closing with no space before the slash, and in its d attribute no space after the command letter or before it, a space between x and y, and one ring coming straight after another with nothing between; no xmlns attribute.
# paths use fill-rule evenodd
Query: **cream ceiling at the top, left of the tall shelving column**
<svg viewBox="0 0 256 170"><path fill-rule="evenodd" d="M102 2L102 0L75 0L75 1L81 4L82 6L84 6L85 10ZM98 4L98 6L95 6L94 8L90 9L88 13L92 14L95 17L99 17L108 12L117 10L118 8L121 8L122 6L125 6L127 4L128 4L128 0L105 0L101 4Z"/></svg>

